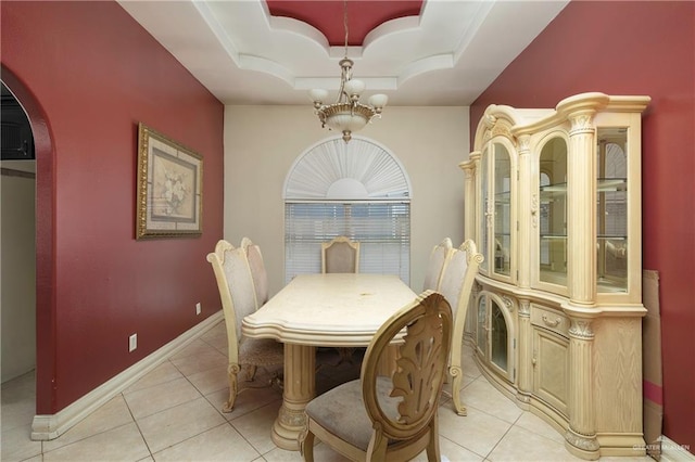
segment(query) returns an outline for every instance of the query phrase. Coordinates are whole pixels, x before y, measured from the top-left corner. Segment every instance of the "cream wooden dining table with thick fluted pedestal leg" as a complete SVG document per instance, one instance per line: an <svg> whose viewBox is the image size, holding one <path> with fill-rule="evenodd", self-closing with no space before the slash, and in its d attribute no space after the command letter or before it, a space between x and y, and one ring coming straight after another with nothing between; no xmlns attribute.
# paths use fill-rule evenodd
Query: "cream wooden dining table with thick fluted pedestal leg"
<svg viewBox="0 0 695 462"><path fill-rule="evenodd" d="M276 446L299 450L304 408L316 394L316 347L369 345L381 324L416 296L396 275L301 274L243 319L243 335L285 344L282 406L271 433Z"/></svg>

